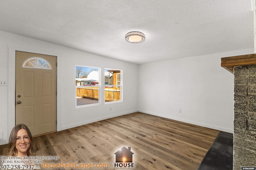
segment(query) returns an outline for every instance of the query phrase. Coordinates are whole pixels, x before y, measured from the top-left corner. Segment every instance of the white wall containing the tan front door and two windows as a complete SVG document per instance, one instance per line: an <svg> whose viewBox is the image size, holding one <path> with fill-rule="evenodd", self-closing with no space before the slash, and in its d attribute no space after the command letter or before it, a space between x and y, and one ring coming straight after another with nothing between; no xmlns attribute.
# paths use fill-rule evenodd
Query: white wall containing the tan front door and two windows
<svg viewBox="0 0 256 170"><path fill-rule="evenodd" d="M8 136L15 125L15 50L56 55L57 67L57 130L124 115L137 111L138 64L114 60L83 51L0 31L0 145L8 143ZM75 65L116 68L123 70L123 102L76 109ZM104 84L104 76L101 77ZM104 96L104 92L101 92ZM112 110L110 111L110 107Z"/></svg>

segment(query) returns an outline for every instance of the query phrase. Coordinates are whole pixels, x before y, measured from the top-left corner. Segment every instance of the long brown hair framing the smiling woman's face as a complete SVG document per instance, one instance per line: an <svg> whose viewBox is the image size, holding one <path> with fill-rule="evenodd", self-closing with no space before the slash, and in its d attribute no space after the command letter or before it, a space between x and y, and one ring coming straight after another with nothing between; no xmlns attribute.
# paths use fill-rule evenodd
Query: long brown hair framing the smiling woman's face
<svg viewBox="0 0 256 170"><path fill-rule="evenodd" d="M34 155L34 149L33 149L33 144L34 144L34 141L33 141L33 137L31 135L31 132L30 130L28 129L28 127L24 124L18 124L16 126L14 126L12 128L12 131L11 131L11 134L10 134L10 138L9 138L9 156L17 156L18 154L18 151L15 147L16 145L16 140L17 140L17 133L20 129L25 129L26 132L28 133L28 137L29 137L29 141L30 141L30 146L27 150L27 154L28 156L32 156Z"/></svg>

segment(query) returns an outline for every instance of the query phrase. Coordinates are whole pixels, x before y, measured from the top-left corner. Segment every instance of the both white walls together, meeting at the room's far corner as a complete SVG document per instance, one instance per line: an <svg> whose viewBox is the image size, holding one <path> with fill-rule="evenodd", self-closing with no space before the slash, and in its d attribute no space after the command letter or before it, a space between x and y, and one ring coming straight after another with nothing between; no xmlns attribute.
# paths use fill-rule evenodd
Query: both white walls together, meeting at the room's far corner
<svg viewBox="0 0 256 170"><path fill-rule="evenodd" d="M254 53L244 49L138 66L0 31L0 80L8 82L0 86L0 145L8 143L15 124L15 50L58 56L58 131L139 110L232 133L233 74L220 59ZM76 109L76 64L101 67L103 75L105 67L122 69L123 102L104 105L102 98L100 106Z"/></svg>

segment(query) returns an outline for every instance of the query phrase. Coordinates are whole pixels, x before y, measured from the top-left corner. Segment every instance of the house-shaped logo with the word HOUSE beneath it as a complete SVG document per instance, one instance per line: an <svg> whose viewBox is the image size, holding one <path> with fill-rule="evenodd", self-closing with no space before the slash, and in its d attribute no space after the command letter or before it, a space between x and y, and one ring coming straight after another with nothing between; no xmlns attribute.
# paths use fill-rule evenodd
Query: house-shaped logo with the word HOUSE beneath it
<svg viewBox="0 0 256 170"><path fill-rule="evenodd" d="M134 163L132 162L132 155L134 153L131 151L131 147L122 147L120 150L116 151L116 163L114 164L115 169L133 169Z"/></svg>

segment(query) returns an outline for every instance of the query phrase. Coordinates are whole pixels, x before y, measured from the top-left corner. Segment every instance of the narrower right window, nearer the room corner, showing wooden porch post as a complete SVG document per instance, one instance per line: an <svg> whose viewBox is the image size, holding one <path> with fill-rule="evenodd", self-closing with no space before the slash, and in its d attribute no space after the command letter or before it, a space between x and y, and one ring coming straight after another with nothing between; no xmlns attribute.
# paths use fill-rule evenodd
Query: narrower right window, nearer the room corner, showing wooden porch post
<svg viewBox="0 0 256 170"><path fill-rule="evenodd" d="M105 102L122 101L121 71L105 68Z"/></svg>

